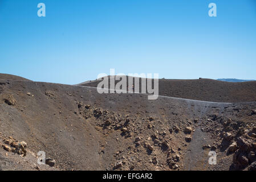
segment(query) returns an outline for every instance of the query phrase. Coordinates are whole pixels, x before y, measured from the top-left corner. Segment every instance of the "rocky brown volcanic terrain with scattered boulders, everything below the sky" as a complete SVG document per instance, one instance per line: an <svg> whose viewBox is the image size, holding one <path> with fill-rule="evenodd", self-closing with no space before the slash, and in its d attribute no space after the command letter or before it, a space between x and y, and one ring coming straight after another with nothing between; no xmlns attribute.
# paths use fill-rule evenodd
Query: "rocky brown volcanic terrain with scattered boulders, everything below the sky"
<svg viewBox="0 0 256 182"><path fill-rule="evenodd" d="M0 170L256 169L256 81L160 79L157 100L96 86L0 74Z"/></svg>

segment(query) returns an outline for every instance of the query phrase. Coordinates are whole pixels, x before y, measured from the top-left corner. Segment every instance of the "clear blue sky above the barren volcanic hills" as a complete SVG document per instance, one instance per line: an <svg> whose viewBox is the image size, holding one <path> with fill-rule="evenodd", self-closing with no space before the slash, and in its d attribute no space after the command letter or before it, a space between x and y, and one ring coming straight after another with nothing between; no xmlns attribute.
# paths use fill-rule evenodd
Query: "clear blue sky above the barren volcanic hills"
<svg viewBox="0 0 256 182"><path fill-rule="evenodd" d="M110 68L256 79L256 1L0 0L0 61L0 73L62 84Z"/></svg>

